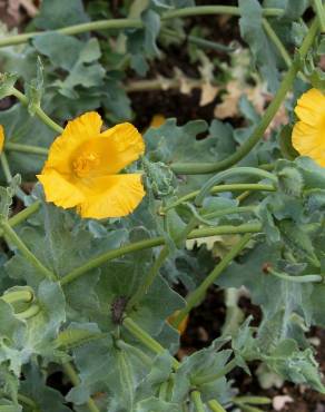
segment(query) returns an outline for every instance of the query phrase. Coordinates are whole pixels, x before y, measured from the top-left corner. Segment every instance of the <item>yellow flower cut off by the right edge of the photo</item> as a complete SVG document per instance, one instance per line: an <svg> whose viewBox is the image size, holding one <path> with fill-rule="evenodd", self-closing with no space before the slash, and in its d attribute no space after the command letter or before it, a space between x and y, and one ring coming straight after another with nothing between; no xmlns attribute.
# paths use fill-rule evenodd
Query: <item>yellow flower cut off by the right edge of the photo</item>
<svg viewBox="0 0 325 412"><path fill-rule="evenodd" d="M317 89L305 92L297 101L299 121L293 130L293 146L325 167L325 96Z"/></svg>

